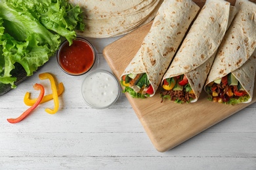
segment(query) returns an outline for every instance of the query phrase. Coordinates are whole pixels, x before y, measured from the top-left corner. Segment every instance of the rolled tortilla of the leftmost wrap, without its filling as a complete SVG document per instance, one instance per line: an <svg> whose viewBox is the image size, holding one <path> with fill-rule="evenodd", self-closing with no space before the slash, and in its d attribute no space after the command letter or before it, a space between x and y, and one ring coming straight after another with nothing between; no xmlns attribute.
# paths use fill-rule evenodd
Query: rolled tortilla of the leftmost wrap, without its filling
<svg viewBox="0 0 256 170"><path fill-rule="evenodd" d="M199 9L191 0L163 1L150 31L121 77L146 73L154 90L150 96L153 96Z"/></svg>

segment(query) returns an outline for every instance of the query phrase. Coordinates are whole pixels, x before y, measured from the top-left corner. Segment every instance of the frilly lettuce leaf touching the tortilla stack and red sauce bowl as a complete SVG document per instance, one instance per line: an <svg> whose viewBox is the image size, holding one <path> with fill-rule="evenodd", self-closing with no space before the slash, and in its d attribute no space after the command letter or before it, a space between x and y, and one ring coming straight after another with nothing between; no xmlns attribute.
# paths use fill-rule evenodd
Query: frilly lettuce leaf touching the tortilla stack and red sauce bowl
<svg viewBox="0 0 256 170"><path fill-rule="evenodd" d="M16 9L27 10L47 29L58 33L72 44L75 29L83 31L83 17L79 6L73 7L68 1L9 0Z"/></svg>

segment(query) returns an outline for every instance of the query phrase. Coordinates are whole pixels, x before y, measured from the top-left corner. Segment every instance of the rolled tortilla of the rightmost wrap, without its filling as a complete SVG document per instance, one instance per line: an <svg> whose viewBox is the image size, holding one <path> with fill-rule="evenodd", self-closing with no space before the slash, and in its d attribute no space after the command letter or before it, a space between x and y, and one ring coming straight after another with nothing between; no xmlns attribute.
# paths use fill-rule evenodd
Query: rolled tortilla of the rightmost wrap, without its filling
<svg viewBox="0 0 256 170"><path fill-rule="evenodd" d="M238 14L217 52L205 82L205 92L210 82L232 73L249 94L249 100L242 103L249 103L253 97L255 81L256 4L247 0L237 0L235 7Z"/></svg>

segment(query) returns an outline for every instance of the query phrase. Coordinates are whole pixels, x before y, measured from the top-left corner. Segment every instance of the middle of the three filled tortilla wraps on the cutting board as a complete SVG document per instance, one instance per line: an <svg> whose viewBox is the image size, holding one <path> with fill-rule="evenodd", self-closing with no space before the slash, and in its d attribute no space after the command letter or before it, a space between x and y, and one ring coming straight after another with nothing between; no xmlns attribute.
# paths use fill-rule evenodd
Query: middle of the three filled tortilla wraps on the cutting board
<svg viewBox="0 0 256 170"><path fill-rule="evenodd" d="M236 9L226 1L207 0L205 2L162 80L163 84L167 78L185 75L194 95L191 99L188 97L187 101L181 102L181 99L176 100L176 97L171 99L167 94L169 90L162 89L163 98L176 100L178 103L192 103L198 100L217 48L235 14ZM182 88L185 90L184 87Z"/></svg>

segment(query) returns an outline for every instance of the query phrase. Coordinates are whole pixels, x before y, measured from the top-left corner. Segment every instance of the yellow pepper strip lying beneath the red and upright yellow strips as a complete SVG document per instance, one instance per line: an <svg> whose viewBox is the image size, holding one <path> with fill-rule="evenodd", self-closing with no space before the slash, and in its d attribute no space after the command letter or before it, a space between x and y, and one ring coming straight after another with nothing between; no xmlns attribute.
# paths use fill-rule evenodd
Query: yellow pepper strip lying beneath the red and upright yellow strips
<svg viewBox="0 0 256 170"><path fill-rule="evenodd" d="M64 92L64 86L63 86L63 83L60 82L58 84L58 91L57 91L58 96L61 95L63 92ZM50 101L51 99L53 99L53 94L45 95L45 96L43 96L43 99L40 102L40 104L46 103L47 101ZM26 92L26 94L24 95L24 103L27 106L32 106L35 103L36 100L37 99L30 99L30 92Z"/></svg>

